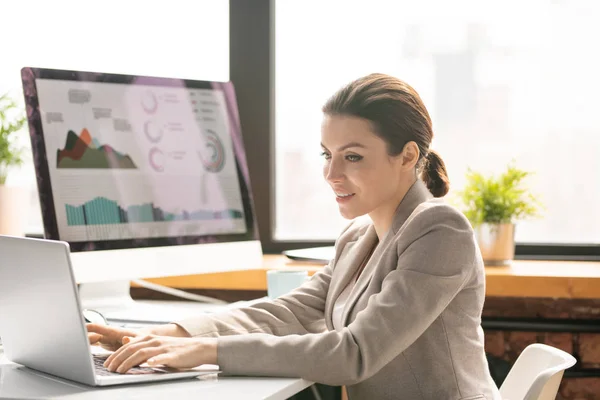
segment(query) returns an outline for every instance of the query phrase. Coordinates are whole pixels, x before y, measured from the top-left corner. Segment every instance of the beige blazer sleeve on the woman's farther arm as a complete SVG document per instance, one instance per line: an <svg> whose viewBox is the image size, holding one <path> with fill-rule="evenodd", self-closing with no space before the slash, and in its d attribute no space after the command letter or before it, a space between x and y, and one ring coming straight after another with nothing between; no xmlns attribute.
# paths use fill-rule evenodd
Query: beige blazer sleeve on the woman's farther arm
<svg viewBox="0 0 600 400"><path fill-rule="evenodd" d="M301 287L277 299L176 323L192 336L207 337L256 332L276 336L323 332L332 264L315 273Z"/></svg>

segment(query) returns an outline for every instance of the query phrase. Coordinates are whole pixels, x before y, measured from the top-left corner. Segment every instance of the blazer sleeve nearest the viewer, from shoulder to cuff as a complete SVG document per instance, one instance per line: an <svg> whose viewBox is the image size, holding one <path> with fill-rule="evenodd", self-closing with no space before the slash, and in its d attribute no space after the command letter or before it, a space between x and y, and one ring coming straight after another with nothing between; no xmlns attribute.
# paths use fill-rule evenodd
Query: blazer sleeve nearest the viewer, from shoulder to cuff
<svg viewBox="0 0 600 400"><path fill-rule="evenodd" d="M415 217L413 224L421 228L411 232L414 241L350 325L302 336L219 338L221 370L329 385L351 385L377 373L423 334L473 272L478 253L468 221L450 207L440 208Z"/></svg>

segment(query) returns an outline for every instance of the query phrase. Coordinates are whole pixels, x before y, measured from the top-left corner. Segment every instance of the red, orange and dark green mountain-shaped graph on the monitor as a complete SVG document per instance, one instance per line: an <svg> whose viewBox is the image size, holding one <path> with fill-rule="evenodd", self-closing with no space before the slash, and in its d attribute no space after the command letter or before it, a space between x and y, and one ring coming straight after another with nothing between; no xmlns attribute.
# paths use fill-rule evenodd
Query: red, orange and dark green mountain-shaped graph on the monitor
<svg viewBox="0 0 600 400"><path fill-rule="evenodd" d="M110 145L101 145L87 129L81 134L67 133L64 149L57 150L56 168L135 169L137 166L127 154Z"/></svg>

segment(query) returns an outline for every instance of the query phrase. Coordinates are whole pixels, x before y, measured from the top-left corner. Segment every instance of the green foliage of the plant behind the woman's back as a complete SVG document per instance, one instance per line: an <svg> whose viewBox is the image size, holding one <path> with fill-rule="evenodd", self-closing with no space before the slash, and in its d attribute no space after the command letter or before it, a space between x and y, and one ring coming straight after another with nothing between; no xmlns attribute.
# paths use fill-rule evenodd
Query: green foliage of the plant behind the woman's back
<svg viewBox="0 0 600 400"><path fill-rule="evenodd" d="M514 223L516 220L539 216L539 200L523 181L532 173L511 163L499 176L484 176L469 169L467 184L459 196L463 210L473 226L482 223Z"/></svg>

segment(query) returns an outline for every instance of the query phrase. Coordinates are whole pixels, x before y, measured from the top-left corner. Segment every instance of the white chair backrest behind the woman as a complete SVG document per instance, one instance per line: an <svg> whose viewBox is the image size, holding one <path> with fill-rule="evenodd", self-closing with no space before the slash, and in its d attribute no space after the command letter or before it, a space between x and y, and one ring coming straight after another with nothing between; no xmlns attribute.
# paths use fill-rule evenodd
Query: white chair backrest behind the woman
<svg viewBox="0 0 600 400"><path fill-rule="evenodd" d="M523 350L500 387L503 400L554 400L565 369L577 360L545 344Z"/></svg>

